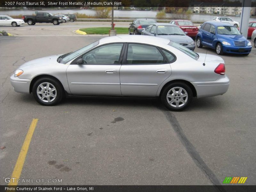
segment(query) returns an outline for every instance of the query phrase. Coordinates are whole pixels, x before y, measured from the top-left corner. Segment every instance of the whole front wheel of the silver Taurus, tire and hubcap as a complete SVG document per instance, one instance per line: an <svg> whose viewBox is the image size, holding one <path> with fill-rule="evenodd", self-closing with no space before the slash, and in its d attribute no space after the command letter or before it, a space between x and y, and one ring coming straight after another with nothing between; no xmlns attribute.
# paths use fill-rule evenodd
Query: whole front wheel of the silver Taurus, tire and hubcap
<svg viewBox="0 0 256 192"><path fill-rule="evenodd" d="M40 84L44 87L46 91L40 86ZM47 84L49 84L49 88L47 88ZM51 91L51 89L53 88L55 88L55 91ZM37 91L42 93L37 94ZM62 100L64 95L61 84L50 77L43 77L38 79L33 85L32 92L36 102L45 106L53 106L58 104ZM55 99L52 96L55 96ZM42 99L40 99L39 97L41 97Z"/></svg>

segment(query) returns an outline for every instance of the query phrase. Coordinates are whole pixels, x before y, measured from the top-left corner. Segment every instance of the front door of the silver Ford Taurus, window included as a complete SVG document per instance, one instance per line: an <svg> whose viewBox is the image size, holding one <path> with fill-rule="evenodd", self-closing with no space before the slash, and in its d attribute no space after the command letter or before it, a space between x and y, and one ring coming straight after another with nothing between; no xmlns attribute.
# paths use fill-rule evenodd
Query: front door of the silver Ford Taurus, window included
<svg viewBox="0 0 256 192"><path fill-rule="evenodd" d="M106 44L84 55L83 64L70 64L67 78L70 92L80 95L121 95L120 55L124 44Z"/></svg>

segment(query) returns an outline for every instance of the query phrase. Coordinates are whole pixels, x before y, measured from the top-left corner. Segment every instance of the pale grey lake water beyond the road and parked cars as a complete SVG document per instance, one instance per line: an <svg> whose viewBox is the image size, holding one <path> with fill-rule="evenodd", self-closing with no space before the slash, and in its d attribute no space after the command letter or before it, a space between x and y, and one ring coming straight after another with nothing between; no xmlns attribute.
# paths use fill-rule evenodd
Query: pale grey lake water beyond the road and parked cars
<svg viewBox="0 0 256 192"><path fill-rule="evenodd" d="M8 10L8 11L0 11L0 15L29 15L35 13L36 10ZM76 12L78 13L84 13L87 15L95 15L94 10L38 10L38 12L51 12L52 14L74 14ZM114 10L114 17L126 17L126 18L156 18L156 11L121 11L121 10ZM203 20L208 21L212 20L215 15L199 15L199 14L192 14L191 20ZM216 15L218 16L218 15ZM172 18L171 13L167 13L166 17ZM240 17L232 17L228 16L229 18L240 22ZM256 21L256 18L250 18L249 21Z"/></svg>

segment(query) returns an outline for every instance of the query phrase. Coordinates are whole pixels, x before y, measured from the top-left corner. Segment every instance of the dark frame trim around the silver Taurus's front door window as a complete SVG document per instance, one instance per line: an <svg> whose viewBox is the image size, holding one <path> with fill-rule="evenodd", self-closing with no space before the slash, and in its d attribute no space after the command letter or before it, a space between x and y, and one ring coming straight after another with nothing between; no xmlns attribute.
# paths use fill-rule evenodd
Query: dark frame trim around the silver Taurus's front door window
<svg viewBox="0 0 256 192"><path fill-rule="evenodd" d="M83 54L81 54L81 55L79 55L78 57L76 57L76 59L74 59L74 60L70 63L70 65L79 65L79 64L76 63L76 61L77 61L78 59L83 58L83 55L84 55L84 54L87 54L88 52L93 51L94 49L97 49L97 48L99 48L99 47L101 47L101 46L109 45L109 44L123 44L123 47L122 47L121 52L120 52L120 55L119 55L118 63L116 63L116 64L84 63L84 64L82 64L82 65L122 65L122 62L121 62L121 61L123 60L124 50L125 50L125 46L124 46L124 45L126 44L126 43L124 43L124 42L107 43L107 44L102 44L102 45L93 47L92 49L88 50L87 52L84 52ZM121 57L122 57L122 59L121 59Z"/></svg>

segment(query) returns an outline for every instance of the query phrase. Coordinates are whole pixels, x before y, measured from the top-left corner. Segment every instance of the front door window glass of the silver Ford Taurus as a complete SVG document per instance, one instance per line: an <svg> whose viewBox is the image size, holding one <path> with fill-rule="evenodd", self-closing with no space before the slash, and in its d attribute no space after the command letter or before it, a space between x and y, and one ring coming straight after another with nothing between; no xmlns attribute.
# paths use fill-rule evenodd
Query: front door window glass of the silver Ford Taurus
<svg viewBox="0 0 256 192"><path fill-rule="evenodd" d="M83 62L85 64L118 64L123 45L116 43L97 47L83 55Z"/></svg>

